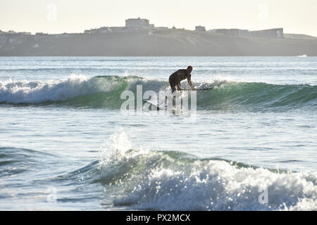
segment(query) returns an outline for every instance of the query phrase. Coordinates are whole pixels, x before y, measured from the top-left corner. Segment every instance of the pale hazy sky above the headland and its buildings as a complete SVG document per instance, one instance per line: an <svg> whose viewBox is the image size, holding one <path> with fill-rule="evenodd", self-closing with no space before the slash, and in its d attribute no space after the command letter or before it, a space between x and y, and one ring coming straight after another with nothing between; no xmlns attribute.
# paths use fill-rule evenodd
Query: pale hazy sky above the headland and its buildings
<svg viewBox="0 0 317 225"><path fill-rule="evenodd" d="M283 27L317 36L316 11L317 0L0 0L0 30L83 32L140 17L187 30Z"/></svg>

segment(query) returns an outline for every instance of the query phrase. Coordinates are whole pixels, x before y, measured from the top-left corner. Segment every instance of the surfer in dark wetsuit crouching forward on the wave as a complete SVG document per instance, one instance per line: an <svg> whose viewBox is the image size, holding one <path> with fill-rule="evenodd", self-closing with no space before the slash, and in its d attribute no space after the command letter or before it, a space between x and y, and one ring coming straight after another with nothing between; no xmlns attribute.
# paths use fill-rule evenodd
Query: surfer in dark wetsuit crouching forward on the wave
<svg viewBox="0 0 317 225"><path fill-rule="evenodd" d="M192 90L196 90L194 85L192 85L192 80L191 77L192 75L190 74L192 72L192 66L189 65L186 70L178 70L174 72L172 75L170 75L170 88L172 89L172 93L176 91L175 86L177 87L178 91L181 91L182 89L180 88L180 82L184 79L187 79L187 82L189 86L192 88Z"/></svg>

